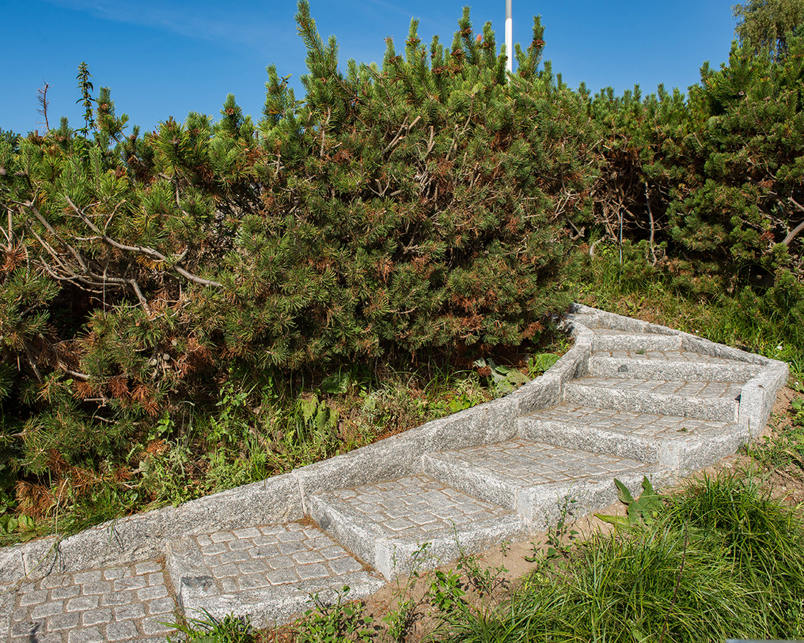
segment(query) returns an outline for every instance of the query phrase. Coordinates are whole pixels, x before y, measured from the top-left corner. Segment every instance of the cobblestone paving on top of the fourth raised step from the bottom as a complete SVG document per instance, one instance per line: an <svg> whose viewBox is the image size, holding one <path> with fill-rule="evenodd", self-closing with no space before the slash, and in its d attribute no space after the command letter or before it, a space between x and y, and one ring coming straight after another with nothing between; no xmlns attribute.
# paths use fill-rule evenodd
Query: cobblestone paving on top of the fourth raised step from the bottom
<svg viewBox="0 0 804 643"><path fill-rule="evenodd" d="M614 411L609 408L589 408L562 404L535 412L534 417L582 424L591 430L618 431L637 436L667 436L673 440L684 440L701 432L720 431L728 422L699 420L694 417L654 416L650 413Z"/></svg>

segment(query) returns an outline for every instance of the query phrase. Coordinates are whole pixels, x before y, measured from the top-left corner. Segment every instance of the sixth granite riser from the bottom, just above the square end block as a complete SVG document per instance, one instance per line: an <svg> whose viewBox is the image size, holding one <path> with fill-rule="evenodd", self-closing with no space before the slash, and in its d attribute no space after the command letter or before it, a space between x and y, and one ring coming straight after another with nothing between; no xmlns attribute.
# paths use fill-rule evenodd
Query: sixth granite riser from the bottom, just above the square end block
<svg viewBox="0 0 804 643"><path fill-rule="evenodd" d="M748 382L757 375L758 367L746 364L704 364L701 362L668 362L660 359L629 359L613 357L589 358L592 377L622 379L662 379L687 382Z"/></svg>

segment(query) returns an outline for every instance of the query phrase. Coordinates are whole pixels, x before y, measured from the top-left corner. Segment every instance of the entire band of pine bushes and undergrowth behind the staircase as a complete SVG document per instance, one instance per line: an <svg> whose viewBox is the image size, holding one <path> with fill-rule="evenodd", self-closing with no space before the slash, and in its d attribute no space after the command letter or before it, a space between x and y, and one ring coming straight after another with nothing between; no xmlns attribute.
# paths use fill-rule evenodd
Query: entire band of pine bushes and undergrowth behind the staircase
<svg viewBox="0 0 804 643"><path fill-rule="evenodd" d="M267 68L259 121L228 95L217 121L129 131L81 63L82 129L0 132L14 475L137 472L115 487L131 506L284 471L539 375L554 358L526 376L494 350L538 342L575 297L797 367L797 2L738 5L740 46L687 96L573 91L540 67L538 17L502 52L468 9L449 46L414 20L381 65L342 66L299 2L305 96ZM375 385L453 358L482 375L444 398ZM338 407L355 391L359 421Z"/></svg>

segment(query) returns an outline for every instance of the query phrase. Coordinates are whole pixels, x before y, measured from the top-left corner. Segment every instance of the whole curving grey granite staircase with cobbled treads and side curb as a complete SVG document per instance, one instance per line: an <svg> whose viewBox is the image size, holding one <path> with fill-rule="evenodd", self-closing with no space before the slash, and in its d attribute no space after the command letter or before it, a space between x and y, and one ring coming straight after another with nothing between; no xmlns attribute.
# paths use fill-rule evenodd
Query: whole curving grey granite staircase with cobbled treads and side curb
<svg viewBox="0 0 804 643"><path fill-rule="evenodd" d="M575 345L511 395L355 452L0 551L0 640L142 641L178 612L288 620L593 511L756 436L787 367L575 305ZM4 589L2 589L4 588ZM2 638L5 635L6 638Z"/></svg>

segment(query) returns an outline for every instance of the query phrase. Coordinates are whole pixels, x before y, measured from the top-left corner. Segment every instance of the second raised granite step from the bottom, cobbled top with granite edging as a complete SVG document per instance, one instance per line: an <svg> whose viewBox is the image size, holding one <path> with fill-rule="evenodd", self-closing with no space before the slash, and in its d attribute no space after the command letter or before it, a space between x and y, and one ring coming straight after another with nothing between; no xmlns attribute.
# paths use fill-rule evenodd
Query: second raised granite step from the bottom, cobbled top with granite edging
<svg viewBox="0 0 804 643"><path fill-rule="evenodd" d="M322 530L388 580L528 534L514 511L425 475L314 495L308 511Z"/></svg>

